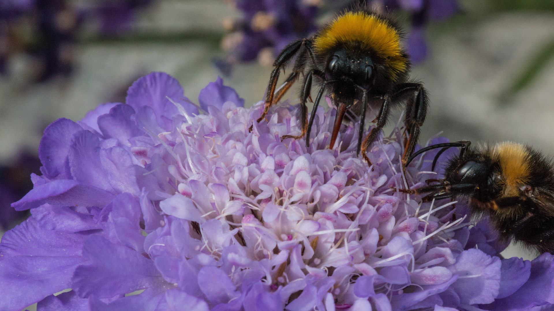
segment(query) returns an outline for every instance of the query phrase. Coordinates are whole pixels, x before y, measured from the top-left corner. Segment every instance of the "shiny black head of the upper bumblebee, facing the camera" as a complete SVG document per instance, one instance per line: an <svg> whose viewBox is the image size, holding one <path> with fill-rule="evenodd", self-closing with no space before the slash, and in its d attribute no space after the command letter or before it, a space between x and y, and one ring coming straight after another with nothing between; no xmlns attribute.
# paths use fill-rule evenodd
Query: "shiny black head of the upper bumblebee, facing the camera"
<svg viewBox="0 0 554 311"><path fill-rule="evenodd" d="M339 49L329 58L325 75L332 80L352 80L363 87L371 87L375 81L375 65L369 55L349 55L346 49Z"/></svg>

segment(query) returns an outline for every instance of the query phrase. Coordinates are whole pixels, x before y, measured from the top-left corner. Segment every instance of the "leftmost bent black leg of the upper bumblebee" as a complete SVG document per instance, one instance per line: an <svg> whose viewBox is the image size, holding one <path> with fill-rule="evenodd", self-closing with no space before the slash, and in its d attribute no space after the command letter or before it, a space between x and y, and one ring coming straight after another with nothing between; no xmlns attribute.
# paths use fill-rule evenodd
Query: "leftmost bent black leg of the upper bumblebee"
<svg viewBox="0 0 554 311"><path fill-rule="evenodd" d="M281 53L279 53L279 55L275 59L275 62L273 63L273 66L275 68L273 69L273 71L271 71L271 76L269 78L269 83L268 83L268 91L265 95L264 111L261 113L261 116L258 118L258 120L256 120L258 123L261 120L264 120L265 115L268 114L269 108L271 107L271 105L275 103L273 101L273 96L275 92L275 87L277 86L277 81L279 80L279 74L281 72L281 69L283 69L286 66L286 64L294 57L294 55L296 55L298 51L300 51L300 48L302 46L304 46L308 50L310 57L313 60L314 56L311 50L311 41L308 39L297 40L285 46L285 48L281 51ZM284 92L283 92L283 95L284 95ZM250 126L249 132L252 132L252 127L253 126Z"/></svg>

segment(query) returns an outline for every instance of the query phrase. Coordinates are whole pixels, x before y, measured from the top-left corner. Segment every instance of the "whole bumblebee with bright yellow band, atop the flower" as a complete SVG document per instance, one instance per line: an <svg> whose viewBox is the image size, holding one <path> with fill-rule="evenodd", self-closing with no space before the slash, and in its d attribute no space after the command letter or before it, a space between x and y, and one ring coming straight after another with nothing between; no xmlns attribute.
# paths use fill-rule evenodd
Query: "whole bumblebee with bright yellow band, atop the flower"
<svg viewBox="0 0 554 311"><path fill-rule="evenodd" d="M406 103L404 123L408 137L404 139L402 162L406 163L419 137L419 127L427 114L428 96L423 85L409 82L409 56L402 47L402 30L391 18L360 6L346 11L319 30L312 38L297 40L287 45L275 59L274 70L265 96L265 107L258 122L264 120L269 107L278 102L300 76L304 77L301 89L301 133L282 138L300 139L306 136L310 146L310 131L315 111L324 94L329 94L337 107L332 129L330 148L342 125L347 110L360 117L357 155L362 153L368 163L366 150L376 141L387 122L391 108ZM296 60L291 74L277 91L280 71ZM312 80L320 84L310 119L306 102L311 99ZM368 111L369 107L369 111ZM373 128L362 143L366 113L376 115ZM252 130L252 127L250 127Z"/></svg>

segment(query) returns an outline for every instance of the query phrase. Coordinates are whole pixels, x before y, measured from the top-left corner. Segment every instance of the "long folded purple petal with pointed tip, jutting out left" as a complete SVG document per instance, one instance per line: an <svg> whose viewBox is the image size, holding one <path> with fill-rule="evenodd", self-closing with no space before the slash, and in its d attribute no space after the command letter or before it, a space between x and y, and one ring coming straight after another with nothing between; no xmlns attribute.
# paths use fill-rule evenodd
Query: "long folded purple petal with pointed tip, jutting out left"
<svg viewBox="0 0 554 311"><path fill-rule="evenodd" d="M48 203L54 206L104 207L114 195L94 186L81 185L76 180L60 179L37 186L21 200L12 203L18 211L38 208Z"/></svg>

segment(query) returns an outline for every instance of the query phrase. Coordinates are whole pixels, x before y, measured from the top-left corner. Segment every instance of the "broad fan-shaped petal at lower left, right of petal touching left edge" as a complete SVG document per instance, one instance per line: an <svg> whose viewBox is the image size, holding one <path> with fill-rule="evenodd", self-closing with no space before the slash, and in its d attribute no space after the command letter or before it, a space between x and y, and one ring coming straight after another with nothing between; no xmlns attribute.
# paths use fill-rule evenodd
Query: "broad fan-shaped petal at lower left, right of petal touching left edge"
<svg viewBox="0 0 554 311"><path fill-rule="evenodd" d="M84 253L92 263L75 269L73 289L79 297L110 298L165 283L152 260L104 237L90 236Z"/></svg>

